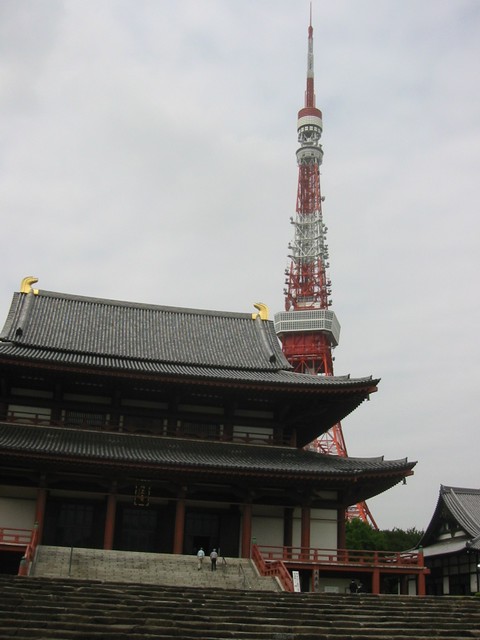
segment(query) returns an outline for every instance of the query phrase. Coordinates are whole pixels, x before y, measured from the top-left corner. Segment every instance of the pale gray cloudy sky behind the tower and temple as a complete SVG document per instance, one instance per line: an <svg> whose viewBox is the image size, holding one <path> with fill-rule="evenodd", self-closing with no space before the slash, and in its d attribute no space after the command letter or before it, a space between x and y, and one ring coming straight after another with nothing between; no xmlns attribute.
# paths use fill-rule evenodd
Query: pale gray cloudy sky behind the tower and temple
<svg viewBox="0 0 480 640"><path fill-rule="evenodd" d="M0 315L50 291L283 309L307 0L0 0ZM381 377L350 455L423 529L480 487L480 2L314 0L335 373ZM2 322L0 320L0 322Z"/></svg>

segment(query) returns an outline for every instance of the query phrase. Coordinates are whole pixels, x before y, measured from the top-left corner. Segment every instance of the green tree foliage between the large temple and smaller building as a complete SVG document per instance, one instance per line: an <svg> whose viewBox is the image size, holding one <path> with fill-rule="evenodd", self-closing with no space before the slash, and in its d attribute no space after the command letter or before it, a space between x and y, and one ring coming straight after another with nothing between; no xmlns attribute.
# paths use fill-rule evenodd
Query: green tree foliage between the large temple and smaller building
<svg viewBox="0 0 480 640"><path fill-rule="evenodd" d="M415 527L403 530L398 527L379 531L360 518L347 521L347 549L377 551L407 551L420 541L423 531Z"/></svg>

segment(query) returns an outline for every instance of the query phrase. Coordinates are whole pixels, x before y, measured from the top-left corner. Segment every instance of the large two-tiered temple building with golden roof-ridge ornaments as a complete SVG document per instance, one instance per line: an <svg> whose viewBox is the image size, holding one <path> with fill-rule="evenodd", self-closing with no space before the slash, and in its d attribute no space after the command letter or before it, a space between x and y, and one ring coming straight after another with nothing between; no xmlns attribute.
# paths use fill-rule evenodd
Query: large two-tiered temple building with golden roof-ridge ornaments
<svg viewBox="0 0 480 640"><path fill-rule="evenodd" d="M264 305L183 309L35 282L0 334L4 540L35 526L72 547L344 548L346 508L413 473L407 459L305 449L379 381L293 372Z"/></svg>

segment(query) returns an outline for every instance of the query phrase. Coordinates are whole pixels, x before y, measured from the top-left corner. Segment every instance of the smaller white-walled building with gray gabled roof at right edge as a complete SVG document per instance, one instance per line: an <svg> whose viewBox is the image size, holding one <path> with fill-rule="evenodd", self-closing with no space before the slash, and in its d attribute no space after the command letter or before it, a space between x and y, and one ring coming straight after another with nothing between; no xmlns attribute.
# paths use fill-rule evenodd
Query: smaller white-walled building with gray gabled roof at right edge
<svg viewBox="0 0 480 640"><path fill-rule="evenodd" d="M480 592L480 489L440 485L433 517L419 542L429 595Z"/></svg>

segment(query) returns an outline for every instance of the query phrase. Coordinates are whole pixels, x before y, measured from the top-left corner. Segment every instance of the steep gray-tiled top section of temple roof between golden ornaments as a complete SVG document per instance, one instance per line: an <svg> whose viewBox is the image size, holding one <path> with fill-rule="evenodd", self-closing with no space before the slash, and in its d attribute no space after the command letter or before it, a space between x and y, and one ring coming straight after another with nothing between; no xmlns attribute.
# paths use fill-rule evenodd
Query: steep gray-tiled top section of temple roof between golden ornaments
<svg viewBox="0 0 480 640"><path fill-rule="evenodd" d="M290 369L273 323L251 314L16 293L0 340L55 353L245 370Z"/></svg>

